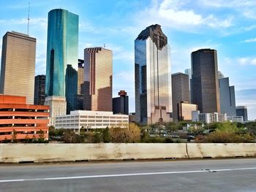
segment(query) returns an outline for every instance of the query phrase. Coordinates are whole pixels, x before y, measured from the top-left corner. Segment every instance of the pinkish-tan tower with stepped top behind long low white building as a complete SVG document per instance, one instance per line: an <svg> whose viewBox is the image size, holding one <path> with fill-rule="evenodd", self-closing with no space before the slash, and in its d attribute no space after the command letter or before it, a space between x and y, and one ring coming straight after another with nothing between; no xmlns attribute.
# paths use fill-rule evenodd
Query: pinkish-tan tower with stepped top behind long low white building
<svg viewBox="0 0 256 192"><path fill-rule="evenodd" d="M112 112L111 50L102 47L84 50L84 108L91 111Z"/></svg>

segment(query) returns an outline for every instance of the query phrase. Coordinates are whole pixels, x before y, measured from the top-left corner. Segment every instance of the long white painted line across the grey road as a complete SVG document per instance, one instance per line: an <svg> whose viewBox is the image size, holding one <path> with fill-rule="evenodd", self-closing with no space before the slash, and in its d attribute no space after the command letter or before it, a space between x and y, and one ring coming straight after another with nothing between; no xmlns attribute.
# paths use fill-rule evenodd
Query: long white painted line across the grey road
<svg viewBox="0 0 256 192"><path fill-rule="evenodd" d="M235 169L210 169L210 170L196 170L196 171L181 171L181 172L148 172L148 173L129 173L129 174L99 174L99 175L85 175L76 177L45 177L45 178L31 178L31 179L17 179L17 180L0 180L0 183L12 183L23 181L45 181L45 180L77 180L89 178L102 178L102 177L129 177L139 175L156 175L156 174L187 174L187 173L202 173L202 172L231 172L239 170L253 170L256 167L235 168Z"/></svg>

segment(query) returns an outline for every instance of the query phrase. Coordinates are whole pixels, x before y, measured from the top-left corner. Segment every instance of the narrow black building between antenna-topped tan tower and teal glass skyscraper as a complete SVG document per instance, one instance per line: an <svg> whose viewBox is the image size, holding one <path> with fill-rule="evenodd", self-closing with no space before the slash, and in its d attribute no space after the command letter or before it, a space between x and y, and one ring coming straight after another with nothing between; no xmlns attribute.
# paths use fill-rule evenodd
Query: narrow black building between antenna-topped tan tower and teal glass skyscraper
<svg viewBox="0 0 256 192"><path fill-rule="evenodd" d="M34 77L34 104L45 104L45 74Z"/></svg>

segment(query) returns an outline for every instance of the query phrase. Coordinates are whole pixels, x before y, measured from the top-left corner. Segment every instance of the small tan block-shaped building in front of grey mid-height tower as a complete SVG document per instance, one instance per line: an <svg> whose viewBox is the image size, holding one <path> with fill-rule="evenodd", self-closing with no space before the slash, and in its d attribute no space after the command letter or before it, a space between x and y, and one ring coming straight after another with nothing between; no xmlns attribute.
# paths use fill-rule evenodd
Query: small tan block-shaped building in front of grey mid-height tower
<svg viewBox="0 0 256 192"><path fill-rule="evenodd" d="M197 111L196 104L189 104L188 102L178 102L177 113L178 120L192 120L192 111Z"/></svg>

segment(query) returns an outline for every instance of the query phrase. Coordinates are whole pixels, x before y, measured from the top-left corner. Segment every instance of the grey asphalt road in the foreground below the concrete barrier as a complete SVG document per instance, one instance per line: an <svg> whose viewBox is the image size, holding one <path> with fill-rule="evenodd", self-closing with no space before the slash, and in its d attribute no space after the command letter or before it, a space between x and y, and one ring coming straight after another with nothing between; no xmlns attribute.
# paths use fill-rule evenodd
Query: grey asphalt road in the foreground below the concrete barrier
<svg viewBox="0 0 256 192"><path fill-rule="evenodd" d="M0 191L256 191L256 158L0 164Z"/></svg>

